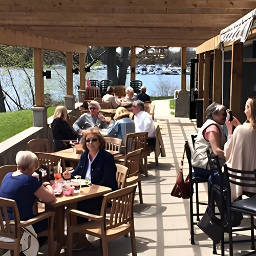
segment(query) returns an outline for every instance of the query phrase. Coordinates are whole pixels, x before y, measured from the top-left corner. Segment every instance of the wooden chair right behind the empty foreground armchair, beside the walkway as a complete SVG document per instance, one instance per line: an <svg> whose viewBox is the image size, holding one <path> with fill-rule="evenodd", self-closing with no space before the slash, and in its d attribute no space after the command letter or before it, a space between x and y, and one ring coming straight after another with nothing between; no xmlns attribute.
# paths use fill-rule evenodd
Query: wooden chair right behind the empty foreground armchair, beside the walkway
<svg viewBox="0 0 256 256"><path fill-rule="evenodd" d="M141 187L141 173L139 172L139 168L142 152L142 148L140 148L139 150L132 151L125 156L124 160L124 166L128 168L126 186L138 184L139 198L141 204L143 204L143 198Z"/></svg>

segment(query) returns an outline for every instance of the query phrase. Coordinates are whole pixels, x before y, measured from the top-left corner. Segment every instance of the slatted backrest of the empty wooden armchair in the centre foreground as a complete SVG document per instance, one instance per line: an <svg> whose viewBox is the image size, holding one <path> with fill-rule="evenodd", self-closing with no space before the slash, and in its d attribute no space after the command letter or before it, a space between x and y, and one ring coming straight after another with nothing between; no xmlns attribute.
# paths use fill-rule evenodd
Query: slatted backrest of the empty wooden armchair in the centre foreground
<svg viewBox="0 0 256 256"><path fill-rule="evenodd" d="M133 220L134 196L137 185L121 188L103 196L101 215L105 218L104 230L112 229ZM108 202L112 202L107 215Z"/></svg>

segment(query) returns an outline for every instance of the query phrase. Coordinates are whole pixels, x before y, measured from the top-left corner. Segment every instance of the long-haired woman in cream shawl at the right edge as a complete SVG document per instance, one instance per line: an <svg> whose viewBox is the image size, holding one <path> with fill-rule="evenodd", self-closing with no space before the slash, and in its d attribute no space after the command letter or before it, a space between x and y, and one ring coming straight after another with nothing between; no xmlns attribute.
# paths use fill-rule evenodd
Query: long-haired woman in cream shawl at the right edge
<svg viewBox="0 0 256 256"><path fill-rule="evenodd" d="M237 118L230 123L226 121L228 128L228 141L224 146L226 164L228 167L239 170L256 169L256 99L249 98L245 103L244 111L247 120L241 125ZM233 131L233 125L237 126ZM233 131L233 134L232 134ZM246 189L230 184L231 200L235 200L243 193L256 194L254 189Z"/></svg>

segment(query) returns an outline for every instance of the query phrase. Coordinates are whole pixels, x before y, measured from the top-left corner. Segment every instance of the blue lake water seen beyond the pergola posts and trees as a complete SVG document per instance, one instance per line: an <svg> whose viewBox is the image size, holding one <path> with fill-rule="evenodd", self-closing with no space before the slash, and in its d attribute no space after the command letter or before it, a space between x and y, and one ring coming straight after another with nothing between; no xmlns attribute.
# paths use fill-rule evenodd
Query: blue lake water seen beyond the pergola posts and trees
<svg viewBox="0 0 256 256"><path fill-rule="evenodd" d="M13 69L10 70L13 76L13 82L18 95L20 97L20 102L24 109L30 109L33 105L31 89L28 85L28 78L23 70ZM34 84L33 69L28 69L27 73L30 76L32 85ZM107 77L106 70L92 70L87 73L86 79L96 79L103 80ZM126 76L126 86L130 86L131 75ZM74 80L74 95L78 96L77 90L79 86L79 75L73 75ZM190 75L186 76L187 90L189 90ZM13 87L10 86L10 78L8 72L4 69L0 69L0 80L3 89L8 92L12 99L16 99ZM66 69L56 69L52 70L52 79L44 78L45 95L52 100L61 101L66 95ZM147 94L150 96L172 96L174 95L174 90L180 90L181 87L181 75L142 75L136 74L136 80L141 80L143 85L147 87ZM45 97L47 98L47 97ZM8 96L6 96L8 104L11 106L11 110L16 110L15 104L12 102ZM7 108L7 105L6 105ZM8 108L7 108L8 111Z"/></svg>

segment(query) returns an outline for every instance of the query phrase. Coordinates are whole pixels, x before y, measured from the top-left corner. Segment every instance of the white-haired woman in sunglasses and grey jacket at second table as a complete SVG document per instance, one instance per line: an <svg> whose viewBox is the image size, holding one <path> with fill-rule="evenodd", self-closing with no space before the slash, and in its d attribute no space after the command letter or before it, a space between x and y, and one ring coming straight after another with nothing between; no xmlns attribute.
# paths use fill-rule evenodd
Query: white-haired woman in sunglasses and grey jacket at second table
<svg viewBox="0 0 256 256"><path fill-rule="evenodd" d="M90 113L81 115L73 124L74 130L78 134L82 134L82 130L87 130L90 127L98 127L98 129L103 129L108 127L108 123L104 116L99 113L100 104L96 100L92 100L89 103Z"/></svg>

